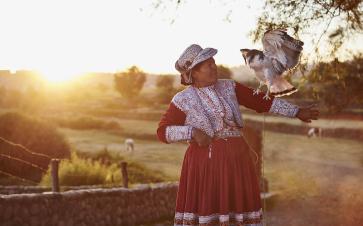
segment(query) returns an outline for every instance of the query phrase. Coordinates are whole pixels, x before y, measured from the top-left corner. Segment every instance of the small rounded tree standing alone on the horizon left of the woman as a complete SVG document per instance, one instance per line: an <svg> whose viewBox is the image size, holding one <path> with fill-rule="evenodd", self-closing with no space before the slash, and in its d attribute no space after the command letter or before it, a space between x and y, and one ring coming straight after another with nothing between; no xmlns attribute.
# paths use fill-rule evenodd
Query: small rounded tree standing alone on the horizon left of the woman
<svg viewBox="0 0 363 226"><path fill-rule="evenodd" d="M114 74L115 89L130 102L138 97L145 81L146 74L136 66Z"/></svg>

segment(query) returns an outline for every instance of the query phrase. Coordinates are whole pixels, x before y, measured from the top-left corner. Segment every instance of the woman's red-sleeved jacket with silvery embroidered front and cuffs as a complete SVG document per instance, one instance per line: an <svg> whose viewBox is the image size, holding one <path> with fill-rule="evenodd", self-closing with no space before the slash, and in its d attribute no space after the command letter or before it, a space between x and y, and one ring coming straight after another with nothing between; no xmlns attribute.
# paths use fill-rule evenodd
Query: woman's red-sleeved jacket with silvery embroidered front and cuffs
<svg viewBox="0 0 363 226"><path fill-rule="evenodd" d="M193 127L211 137L221 131L241 128L239 105L257 112L296 116L296 105L273 96L264 100L263 96L264 93L253 95L252 89L229 79L219 79L215 85L203 88L191 85L173 97L159 122L158 138L165 143L191 140Z"/></svg>

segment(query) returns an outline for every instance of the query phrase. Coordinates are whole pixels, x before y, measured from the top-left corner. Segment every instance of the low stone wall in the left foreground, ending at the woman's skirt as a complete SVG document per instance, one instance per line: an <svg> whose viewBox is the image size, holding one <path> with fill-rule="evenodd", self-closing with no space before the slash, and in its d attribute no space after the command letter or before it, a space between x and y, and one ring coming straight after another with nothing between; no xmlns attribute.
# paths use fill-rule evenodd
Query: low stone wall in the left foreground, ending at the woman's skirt
<svg viewBox="0 0 363 226"><path fill-rule="evenodd" d="M177 183L0 195L0 225L141 225L173 218Z"/></svg>

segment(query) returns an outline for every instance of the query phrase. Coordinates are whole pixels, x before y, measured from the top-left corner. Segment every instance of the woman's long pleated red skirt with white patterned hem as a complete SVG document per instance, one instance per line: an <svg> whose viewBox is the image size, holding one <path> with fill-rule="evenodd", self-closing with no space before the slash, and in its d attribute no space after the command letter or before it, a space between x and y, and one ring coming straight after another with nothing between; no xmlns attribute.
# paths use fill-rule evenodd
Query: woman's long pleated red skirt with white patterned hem
<svg viewBox="0 0 363 226"><path fill-rule="evenodd" d="M174 226L262 225L255 159L243 137L191 143L185 153Z"/></svg>

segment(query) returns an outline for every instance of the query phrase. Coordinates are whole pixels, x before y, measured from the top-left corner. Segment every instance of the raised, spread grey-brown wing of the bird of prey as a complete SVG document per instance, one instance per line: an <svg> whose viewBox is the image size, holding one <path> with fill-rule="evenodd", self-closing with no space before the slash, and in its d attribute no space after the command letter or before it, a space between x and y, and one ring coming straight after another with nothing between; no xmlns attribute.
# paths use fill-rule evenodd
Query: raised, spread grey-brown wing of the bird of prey
<svg viewBox="0 0 363 226"><path fill-rule="evenodd" d="M294 67L300 58L303 42L286 33L285 29L267 31L262 38L264 54L277 60L286 71ZM274 64L275 67L277 64ZM276 68L281 71L281 68Z"/></svg>

